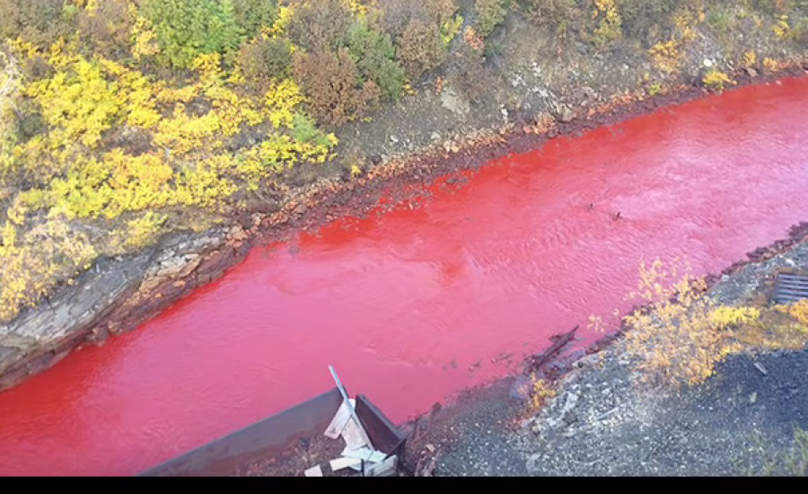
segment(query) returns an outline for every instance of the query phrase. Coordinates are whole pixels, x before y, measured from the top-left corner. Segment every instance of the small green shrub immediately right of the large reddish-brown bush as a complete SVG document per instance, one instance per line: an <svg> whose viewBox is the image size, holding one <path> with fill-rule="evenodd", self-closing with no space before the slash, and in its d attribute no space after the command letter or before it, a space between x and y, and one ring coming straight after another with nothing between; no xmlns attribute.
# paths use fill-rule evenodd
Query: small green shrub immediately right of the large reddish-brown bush
<svg viewBox="0 0 808 494"><path fill-rule="evenodd" d="M391 100L400 98L405 75L396 62L396 49L389 34L356 24L350 32L348 49L365 81L373 81Z"/></svg>

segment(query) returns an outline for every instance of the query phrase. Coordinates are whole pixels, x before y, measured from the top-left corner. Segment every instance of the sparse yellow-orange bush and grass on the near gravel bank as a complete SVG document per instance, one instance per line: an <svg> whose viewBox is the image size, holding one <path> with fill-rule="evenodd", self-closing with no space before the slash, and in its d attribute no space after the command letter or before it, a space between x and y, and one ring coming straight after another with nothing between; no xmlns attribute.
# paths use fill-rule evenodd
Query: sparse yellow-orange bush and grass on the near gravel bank
<svg viewBox="0 0 808 494"><path fill-rule="evenodd" d="M677 260L667 268L660 260L647 267L643 262L639 274L637 291L629 298L642 301L646 309L622 319L628 325L627 350L646 383L700 384L733 353L798 349L808 341L808 302L773 311L722 306L705 295L704 279L694 278L689 266ZM590 328L602 331L600 318L590 321Z"/></svg>

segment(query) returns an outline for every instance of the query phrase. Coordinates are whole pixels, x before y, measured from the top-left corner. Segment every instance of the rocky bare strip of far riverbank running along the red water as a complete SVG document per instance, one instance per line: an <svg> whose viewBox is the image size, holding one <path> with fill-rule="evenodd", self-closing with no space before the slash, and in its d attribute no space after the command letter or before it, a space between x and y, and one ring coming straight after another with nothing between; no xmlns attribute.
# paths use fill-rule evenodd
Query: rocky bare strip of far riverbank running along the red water
<svg viewBox="0 0 808 494"><path fill-rule="evenodd" d="M248 207L203 233L178 229L136 254L101 256L70 284L62 280L35 308L0 325L0 390L55 365L75 348L131 331L220 278L253 244L282 241L338 217L362 216L382 197L385 208L406 207L425 199L418 188L426 182L701 97L712 68L737 86L802 75L804 46L764 29L774 22L770 16L760 18L759 30L749 31L753 17L739 13L725 29L694 20L687 40L678 41L681 49L667 50L661 59L645 46L658 35L626 36L595 47L577 33L556 40L555 33L537 31L520 13L509 13L487 41L498 53L484 72L496 76L476 98L470 88L438 84L452 79L452 71L437 71L373 121L337 128L339 158L287 172L280 180L283 193L252 198ZM672 19L663 23L670 24L673 38L684 35ZM742 32L747 32L742 42L731 36ZM673 62L675 70L669 70ZM447 186L464 180L448 177Z"/></svg>

